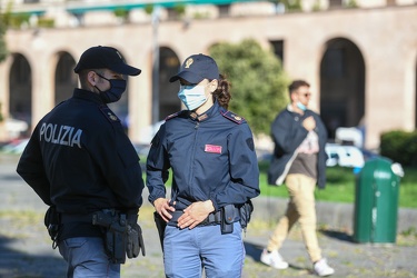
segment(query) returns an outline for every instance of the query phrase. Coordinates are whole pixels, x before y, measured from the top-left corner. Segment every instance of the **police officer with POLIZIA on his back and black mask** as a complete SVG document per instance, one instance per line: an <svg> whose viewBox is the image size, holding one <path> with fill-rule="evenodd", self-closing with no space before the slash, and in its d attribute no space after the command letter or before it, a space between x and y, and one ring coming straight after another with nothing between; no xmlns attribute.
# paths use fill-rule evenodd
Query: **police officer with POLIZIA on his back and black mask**
<svg viewBox="0 0 417 278"><path fill-rule="evenodd" d="M138 215L142 203L139 157L119 118L107 103L126 90L128 66L110 47L86 50L75 72L81 89L37 125L17 171L44 203L59 212L56 239L68 262L68 277L120 277L120 264L109 259L96 211Z"/></svg>

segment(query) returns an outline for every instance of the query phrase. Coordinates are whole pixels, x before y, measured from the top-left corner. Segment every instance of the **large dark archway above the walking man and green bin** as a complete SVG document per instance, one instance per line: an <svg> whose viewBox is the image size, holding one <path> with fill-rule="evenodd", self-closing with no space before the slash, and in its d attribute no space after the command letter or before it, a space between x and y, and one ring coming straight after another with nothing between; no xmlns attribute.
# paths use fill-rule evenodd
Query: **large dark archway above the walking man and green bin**
<svg viewBox="0 0 417 278"><path fill-rule="evenodd" d="M330 139L338 127L363 128L365 81L359 48L345 38L327 41L320 62L320 115Z"/></svg>

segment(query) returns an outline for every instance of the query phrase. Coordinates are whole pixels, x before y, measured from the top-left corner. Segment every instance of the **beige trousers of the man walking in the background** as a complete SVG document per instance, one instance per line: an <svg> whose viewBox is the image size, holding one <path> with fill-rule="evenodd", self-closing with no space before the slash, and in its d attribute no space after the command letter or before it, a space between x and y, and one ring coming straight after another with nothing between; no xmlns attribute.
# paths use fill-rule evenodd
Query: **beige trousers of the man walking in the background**
<svg viewBox="0 0 417 278"><path fill-rule="evenodd" d="M321 259L316 232L316 180L305 175L291 173L286 178L286 186L289 193L287 211L270 236L267 249L278 250L298 220L310 260L316 262Z"/></svg>

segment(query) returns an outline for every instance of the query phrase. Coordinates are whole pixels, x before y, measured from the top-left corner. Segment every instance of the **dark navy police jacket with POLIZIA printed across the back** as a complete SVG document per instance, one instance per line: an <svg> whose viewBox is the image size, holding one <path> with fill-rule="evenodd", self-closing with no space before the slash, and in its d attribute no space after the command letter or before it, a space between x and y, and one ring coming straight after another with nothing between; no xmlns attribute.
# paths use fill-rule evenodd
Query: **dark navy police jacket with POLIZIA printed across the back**
<svg viewBox="0 0 417 278"><path fill-rule="evenodd" d="M91 91L75 89L39 121L17 171L61 214L137 211L142 203L139 157L118 117ZM86 224L64 227L61 239L98 235Z"/></svg>

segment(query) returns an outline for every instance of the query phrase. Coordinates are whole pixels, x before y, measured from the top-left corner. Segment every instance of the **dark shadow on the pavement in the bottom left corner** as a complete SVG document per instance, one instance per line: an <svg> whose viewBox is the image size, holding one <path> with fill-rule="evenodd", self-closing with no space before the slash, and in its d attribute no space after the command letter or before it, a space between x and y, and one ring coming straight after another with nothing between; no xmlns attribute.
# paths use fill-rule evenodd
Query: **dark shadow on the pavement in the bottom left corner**
<svg viewBox="0 0 417 278"><path fill-rule="evenodd" d="M28 250L27 254L13 250L9 246L16 241L18 239L0 236L0 277L56 278L66 276L67 266L63 259L50 255L33 255L31 254L33 250Z"/></svg>

